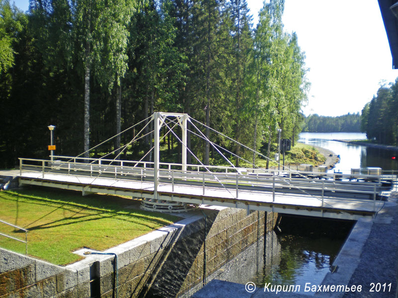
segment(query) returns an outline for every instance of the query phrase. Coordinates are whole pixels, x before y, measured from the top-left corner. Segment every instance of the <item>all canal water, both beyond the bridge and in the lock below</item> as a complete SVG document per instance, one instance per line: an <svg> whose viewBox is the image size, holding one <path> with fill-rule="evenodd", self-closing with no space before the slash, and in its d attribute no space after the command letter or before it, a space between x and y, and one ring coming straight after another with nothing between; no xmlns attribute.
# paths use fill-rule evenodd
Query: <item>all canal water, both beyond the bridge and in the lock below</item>
<svg viewBox="0 0 398 298"><path fill-rule="evenodd" d="M364 140L361 133L301 133L299 142L332 150L340 155L334 170L350 172L351 168L381 167L383 170L398 170L398 161L391 156L397 151L368 148L333 140ZM333 171L333 170L332 170ZM287 219L288 218L288 219ZM251 263L251 278L248 272L240 275L245 284L254 282L257 287L272 285L320 285L330 271L334 258L350 232L352 222L322 221L314 218L282 217L282 233L265 236L264 256ZM345 225L344 225L345 224ZM290 230L288 227L295 227ZM340 231L325 235L322 231ZM243 262L243 260L241 260ZM254 265L256 264L256 265ZM308 295L308 293L305 293ZM311 293L309 293L311 294Z"/></svg>

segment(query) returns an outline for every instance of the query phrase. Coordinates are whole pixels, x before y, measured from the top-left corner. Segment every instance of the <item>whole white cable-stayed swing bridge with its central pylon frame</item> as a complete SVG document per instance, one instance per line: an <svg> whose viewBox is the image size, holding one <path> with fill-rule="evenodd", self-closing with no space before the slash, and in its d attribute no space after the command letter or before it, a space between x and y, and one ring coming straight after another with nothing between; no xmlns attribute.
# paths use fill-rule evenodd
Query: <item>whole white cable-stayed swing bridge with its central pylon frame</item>
<svg viewBox="0 0 398 298"><path fill-rule="evenodd" d="M145 133L150 123L153 130ZM390 184L396 182L393 175L315 174L286 168L283 171L265 170L211 142L201 132L200 126L230 142L236 141L188 114L155 112L120 134L138 125L143 127L129 143L100 158L82 155L117 135L76 157L51 155L49 160L19 158L19 184L76 190L83 195L105 193L130 196L141 200L143 209L162 212L180 212L199 205L212 205L241 208L247 213L260 210L358 220L374 217L384 206L381 192L385 181ZM160 134L162 127L167 129L163 137ZM176 127L181 128L181 136L174 131ZM188 132L208 142L229 166L203 164L187 146ZM153 147L140 160L119 159L128 146L151 133ZM182 145L181 163L160 161L160 142L168 134L174 135ZM236 143L262 158L268 158ZM153 161L145 161L145 157L152 153ZM197 164L187 163L188 153ZM106 158L111 154L115 155L113 159ZM235 167L225 154L235 156L253 167ZM314 178L308 177L314 174Z"/></svg>

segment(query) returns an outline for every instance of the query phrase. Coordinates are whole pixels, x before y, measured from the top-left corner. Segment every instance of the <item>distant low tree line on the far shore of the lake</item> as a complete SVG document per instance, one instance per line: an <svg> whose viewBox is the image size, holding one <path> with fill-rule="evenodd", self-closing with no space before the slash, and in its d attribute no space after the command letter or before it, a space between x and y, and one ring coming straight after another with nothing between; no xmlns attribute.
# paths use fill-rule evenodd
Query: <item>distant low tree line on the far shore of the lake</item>
<svg viewBox="0 0 398 298"><path fill-rule="evenodd" d="M330 117L309 115L304 119L304 132L316 133L353 133L361 131L361 115L359 113Z"/></svg>

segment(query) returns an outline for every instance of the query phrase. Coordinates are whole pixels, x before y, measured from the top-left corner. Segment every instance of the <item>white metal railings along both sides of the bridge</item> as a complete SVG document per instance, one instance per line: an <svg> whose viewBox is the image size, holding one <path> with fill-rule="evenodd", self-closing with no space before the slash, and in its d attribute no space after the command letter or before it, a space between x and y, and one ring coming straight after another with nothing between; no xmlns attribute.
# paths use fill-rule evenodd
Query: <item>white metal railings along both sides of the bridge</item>
<svg viewBox="0 0 398 298"><path fill-rule="evenodd" d="M39 171L43 174L67 174L74 176L105 177L123 180L150 181L154 177L153 162L113 160L84 157L54 156L53 161L45 159L19 158L20 174L22 171ZM235 189L236 198L241 191L271 191L275 200L276 192L299 192L308 195L308 192L317 192L319 198L324 196L342 198L338 193L345 193L350 199L373 199L380 192L383 180L396 180L394 175L362 175L341 173L318 173L299 171L262 170L256 172L252 168L235 168L227 166L206 166L212 172L208 172L202 165L188 164L191 170L181 170L182 165L178 163L160 163L159 178L162 183L171 183L174 192L175 185L202 186L203 195L207 187L223 187ZM194 170L192 170L194 169ZM277 176L281 172L284 176ZM302 177L298 178L297 176ZM317 178L303 179L304 175L316 176ZM319 179L330 178L331 180ZM341 181L341 179L363 179L370 182Z"/></svg>

